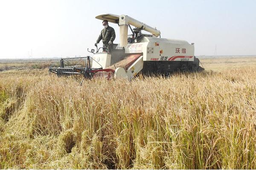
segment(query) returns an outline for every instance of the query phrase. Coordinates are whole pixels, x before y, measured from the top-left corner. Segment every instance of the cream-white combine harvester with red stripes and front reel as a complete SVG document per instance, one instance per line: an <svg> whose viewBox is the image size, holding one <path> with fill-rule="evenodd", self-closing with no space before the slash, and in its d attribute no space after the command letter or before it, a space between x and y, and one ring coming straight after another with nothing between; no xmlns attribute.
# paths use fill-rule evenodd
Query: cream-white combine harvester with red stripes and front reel
<svg viewBox="0 0 256 170"><path fill-rule="evenodd" d="M111 52L99 52L103 47L97 47L96 53L94 49L87 49L93 53L93 57L61 59L58 67L55 67L56 63L49 67L50 73L58 76L82 74L85 79L105 75L108 79L114 77L131 80L138 73L167 76L175 71L204 70L199 66L199 59L194 56L194 43L158 38L159 30L127 15L102 14L96 16L96 19L118 24L120 43L113 44ZM128 27L131 35L128 35ZM151 34L142 34L142 30ZM68 60L76 60L76 64L70 64Z"/></svg>

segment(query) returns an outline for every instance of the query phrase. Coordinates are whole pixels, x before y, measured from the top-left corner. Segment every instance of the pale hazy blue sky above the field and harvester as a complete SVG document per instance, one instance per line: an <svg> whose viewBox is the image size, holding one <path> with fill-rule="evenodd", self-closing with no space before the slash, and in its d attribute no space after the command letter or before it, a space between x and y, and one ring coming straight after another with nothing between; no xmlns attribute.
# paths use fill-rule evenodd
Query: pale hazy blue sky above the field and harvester
<svg viewBox="0 0 256 170"><path fill-rule="evenodd" d="M103 13L126 14L195 43L195 55L256 54L256 0L0 0L0 58L89 55ZM119 42L119 28L115 43ZM28 52L29 51L29 52Z"/></svg>

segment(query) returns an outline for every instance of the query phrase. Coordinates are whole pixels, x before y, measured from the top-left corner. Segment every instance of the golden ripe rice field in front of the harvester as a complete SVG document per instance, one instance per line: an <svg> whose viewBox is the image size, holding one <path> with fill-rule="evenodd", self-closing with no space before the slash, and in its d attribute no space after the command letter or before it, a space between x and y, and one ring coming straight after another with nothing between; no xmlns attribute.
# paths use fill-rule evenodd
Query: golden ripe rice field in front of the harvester
<svg viewBox="0 0 256 170"><path fill-rule="evenodd" d="M2 71L0 169L256 169L256 58L224 60L82 86Z"/></svg>

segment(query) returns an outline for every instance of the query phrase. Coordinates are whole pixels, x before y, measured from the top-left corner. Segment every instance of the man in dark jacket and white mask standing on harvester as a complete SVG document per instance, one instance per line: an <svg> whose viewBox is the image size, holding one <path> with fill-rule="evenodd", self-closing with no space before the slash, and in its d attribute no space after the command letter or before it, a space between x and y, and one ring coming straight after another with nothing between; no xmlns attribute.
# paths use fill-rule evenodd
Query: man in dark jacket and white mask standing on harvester
<svg viewBox="0 0 256 170"><path fill-rule="evenodd" d="M101 33L99 34L99 38L96 40L95 46L102 40L103 42L103 52L106 52L106 48L108 49L108 52L111 52L111 49L113 48L113 41L116 38L116 33L114 28L108 26L108 20L104 20L102 22L102 25L104 26L104 29L102 29Z"/></svg>

